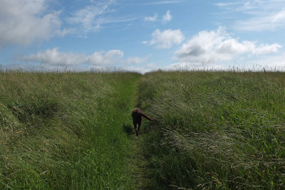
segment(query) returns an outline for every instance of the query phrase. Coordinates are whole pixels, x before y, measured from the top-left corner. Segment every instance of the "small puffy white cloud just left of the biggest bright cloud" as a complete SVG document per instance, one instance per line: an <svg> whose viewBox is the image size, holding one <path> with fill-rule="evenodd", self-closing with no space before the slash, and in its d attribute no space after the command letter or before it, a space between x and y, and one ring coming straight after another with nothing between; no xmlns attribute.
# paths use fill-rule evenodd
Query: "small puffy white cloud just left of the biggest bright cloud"
<svg viewBox="0 0 285 190"><path fill-rule="evenodd" d="M180 44L184 41L185 37L183 36L180 29L178 30L165 30L160 32L159 29L156 29L152 33L152 40L150 45L155 45L157 48L170 48L173 44Z"/></svg>

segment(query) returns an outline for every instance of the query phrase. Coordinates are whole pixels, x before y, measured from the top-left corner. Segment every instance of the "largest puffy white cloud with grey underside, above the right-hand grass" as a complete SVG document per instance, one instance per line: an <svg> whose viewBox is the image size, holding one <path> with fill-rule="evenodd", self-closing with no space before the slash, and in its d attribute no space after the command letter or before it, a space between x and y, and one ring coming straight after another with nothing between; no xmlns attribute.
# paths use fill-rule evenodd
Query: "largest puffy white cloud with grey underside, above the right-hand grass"
<svg viewBox="0 0 285 190"><path fill-rule="evenodd" d="M217 63L232 60L236 56L264 55L276 53L281 45L261 44L254 41L241 41L232 38L224 28L216 31L200 31L190 41L182 44L175 52L175 58L182 63Z"/></svg>

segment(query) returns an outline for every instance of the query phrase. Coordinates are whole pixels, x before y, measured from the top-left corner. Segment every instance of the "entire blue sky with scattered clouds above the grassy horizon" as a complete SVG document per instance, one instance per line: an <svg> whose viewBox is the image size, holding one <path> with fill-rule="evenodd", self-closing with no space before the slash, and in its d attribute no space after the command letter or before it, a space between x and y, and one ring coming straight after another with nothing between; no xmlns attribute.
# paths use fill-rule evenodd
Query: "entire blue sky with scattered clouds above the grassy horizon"
<svg viewBox="0 0 285 190"><path fill-rule="evenodd" d="M285 0L0 0L0 66L285 70Z"/></svg>

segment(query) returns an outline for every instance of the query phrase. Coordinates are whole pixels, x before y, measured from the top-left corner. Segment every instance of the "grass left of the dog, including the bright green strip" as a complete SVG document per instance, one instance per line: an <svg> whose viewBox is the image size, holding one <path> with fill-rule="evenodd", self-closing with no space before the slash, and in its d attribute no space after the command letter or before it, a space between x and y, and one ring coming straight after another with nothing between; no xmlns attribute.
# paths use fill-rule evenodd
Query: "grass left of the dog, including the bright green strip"
<svg viewBox="0 0 285 190"><path fill-rule="evenodd" d="M0 73L0 189L129 189L136 73Z"/></svg>

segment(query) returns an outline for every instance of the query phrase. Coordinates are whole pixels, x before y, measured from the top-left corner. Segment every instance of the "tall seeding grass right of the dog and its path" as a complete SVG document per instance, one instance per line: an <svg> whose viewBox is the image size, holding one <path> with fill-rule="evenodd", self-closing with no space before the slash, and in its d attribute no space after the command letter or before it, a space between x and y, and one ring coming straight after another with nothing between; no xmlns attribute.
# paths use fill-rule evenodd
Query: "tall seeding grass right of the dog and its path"
<svg viewBox="0 0 285 190"><path fill-rule="evenodd" d="M284 187L284 73L147 73L138 94L149 189Z"/></svg>

